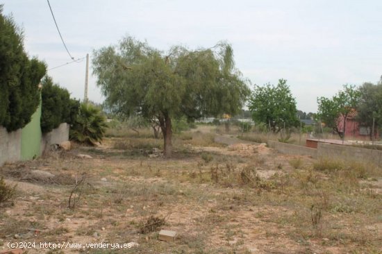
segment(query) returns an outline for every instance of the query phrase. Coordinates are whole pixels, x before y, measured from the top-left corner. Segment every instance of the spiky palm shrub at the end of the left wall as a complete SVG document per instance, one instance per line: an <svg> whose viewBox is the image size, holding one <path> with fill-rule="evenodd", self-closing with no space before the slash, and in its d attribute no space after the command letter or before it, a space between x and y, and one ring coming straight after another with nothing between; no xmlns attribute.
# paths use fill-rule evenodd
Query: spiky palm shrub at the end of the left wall
<svg viewBox="0 0 382 254"><path fill-rule="evenodd" d="M94 146L102 141L106 128L106 117L101 109L90 103L82 103L78 117L70 130L70 139Z"/></svg>

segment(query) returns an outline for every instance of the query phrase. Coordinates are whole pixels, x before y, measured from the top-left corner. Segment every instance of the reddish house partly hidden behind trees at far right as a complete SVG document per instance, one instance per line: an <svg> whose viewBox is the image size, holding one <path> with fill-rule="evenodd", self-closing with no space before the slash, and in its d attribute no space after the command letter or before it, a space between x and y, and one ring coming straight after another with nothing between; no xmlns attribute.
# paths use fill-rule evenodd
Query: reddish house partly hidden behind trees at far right
<svg viewBox="0 0 382 254"><path fill-rule="evenodd" d="M346 126L344 130L344 116L340 115L338 117L338 131L341 133L345 133L346 139L369 139L370 133L372 133L372 130L370 127L367 126L360 126L358 122L356 121L356 117L358 115L358 112L356 110L352 110L349 115L347 115L346 119ZM379 139L379 132L377 130L374 130L375 139Z"/></svg>

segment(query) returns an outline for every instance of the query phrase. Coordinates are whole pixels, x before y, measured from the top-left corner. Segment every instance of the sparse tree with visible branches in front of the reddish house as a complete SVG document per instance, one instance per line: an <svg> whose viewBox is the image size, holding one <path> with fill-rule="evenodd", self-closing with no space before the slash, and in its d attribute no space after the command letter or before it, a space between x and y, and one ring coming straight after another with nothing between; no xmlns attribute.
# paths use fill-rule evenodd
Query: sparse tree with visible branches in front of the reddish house
<svg viewBox="0 0 382 254"><path fill-rule="evenodd" d="M350 112L357 110L360 99L360 91L356 90L354 85L344 85L331 99L325 97L317 98L318 111L317 118L324 122L329 128L344 139L344 130L346 130L347 117ZM342 126L340 126L341 118Z"/></svg>

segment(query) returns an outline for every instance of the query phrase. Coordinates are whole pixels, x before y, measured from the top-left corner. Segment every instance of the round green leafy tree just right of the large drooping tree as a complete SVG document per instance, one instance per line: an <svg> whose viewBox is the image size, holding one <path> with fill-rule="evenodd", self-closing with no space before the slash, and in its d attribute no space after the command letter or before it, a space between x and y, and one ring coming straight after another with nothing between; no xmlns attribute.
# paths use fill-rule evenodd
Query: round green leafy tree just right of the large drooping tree
<svg viewBox="0 0 382 254"><path fill-rule="evenodd" d="M255 86L249 99L254 121L266 124L274 133L299 125L296 100L286 82L280 79L277 85Z"/></svg>

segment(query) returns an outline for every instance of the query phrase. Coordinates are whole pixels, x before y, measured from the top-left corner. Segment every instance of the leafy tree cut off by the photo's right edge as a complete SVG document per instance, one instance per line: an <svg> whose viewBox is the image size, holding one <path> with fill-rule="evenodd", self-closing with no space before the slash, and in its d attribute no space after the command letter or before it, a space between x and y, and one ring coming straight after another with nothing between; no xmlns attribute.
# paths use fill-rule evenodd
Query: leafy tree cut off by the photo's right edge
<svg viewBox="0 0 382 254"><path fill-rule="evenodd" d="M369 127L370 130L372 130L374 121L374 130L377 130L379 126L382 126L382 77L376 85L364 83L359 90L357 121L360 125ZM372 131L369 132L369 135L372 139Z"/></svg>

